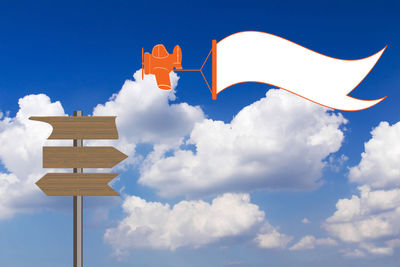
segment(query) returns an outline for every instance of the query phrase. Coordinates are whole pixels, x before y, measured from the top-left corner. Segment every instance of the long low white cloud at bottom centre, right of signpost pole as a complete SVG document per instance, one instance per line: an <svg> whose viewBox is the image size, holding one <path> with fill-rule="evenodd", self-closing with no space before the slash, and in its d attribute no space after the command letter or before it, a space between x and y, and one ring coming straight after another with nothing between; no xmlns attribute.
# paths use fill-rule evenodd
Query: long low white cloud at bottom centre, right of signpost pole
<svg viewBox="0 0 400 267"><path fill-rule="evenodd" d="M224 239L252 236L256 231L274 232L276 240L285 237L265 221L264 212L250 203L248 194L226 193L211 204L201 200L181 201L173 207L129 196L123 209L127 216L104 235L117 255L132 248L196 248ZM261 245L262 239L259 238ZM273 242L276 247L284 241Z"/></svg>

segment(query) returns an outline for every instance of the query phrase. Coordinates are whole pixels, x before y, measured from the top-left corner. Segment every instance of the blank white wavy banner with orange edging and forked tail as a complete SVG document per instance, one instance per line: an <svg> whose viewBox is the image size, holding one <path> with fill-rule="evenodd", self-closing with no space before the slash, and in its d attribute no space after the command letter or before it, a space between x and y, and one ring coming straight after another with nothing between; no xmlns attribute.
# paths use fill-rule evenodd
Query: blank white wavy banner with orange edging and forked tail
<svg viewBox="0 0 400 267"><path fill-rule="evenodd" d="M385 48L367 58L343 60L269 33L239 32L216 45L214 94L237 83L260 82L329 108L366 109L384 97L360 100L347 94L367 76Z"/></svg>

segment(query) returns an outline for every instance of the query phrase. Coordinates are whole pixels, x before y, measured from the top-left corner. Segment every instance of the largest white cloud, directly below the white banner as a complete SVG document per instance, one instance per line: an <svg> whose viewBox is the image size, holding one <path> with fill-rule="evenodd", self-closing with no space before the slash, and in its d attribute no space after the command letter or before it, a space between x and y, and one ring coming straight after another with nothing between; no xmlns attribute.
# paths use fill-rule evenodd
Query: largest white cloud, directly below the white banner
<svg viewBox="0 0 400 267"><path fill-rule="evenodd" d="M242 109L230 123L203 120L185 145L167 156L159 147L139 182L163 196L248 191L310 190L320 183L324 159L343 141L341 114L284 90Z"/></svg>

